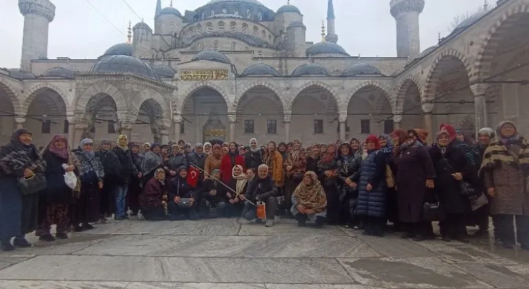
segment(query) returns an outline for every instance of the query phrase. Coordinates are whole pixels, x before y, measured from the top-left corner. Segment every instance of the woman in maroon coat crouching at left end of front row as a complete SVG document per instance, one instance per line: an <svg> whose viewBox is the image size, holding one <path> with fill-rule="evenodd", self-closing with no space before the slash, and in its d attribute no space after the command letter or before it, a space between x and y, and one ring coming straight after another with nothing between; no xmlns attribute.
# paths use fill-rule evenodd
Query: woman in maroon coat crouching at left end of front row
<svg viewBox="0 0 529 289"><path fill-rule="evenodd" d="M165 213L165 171L156 169L154 178L150 179L143 188L140 195L141 215L145 220L158 221L166 220Z"/></svg>

